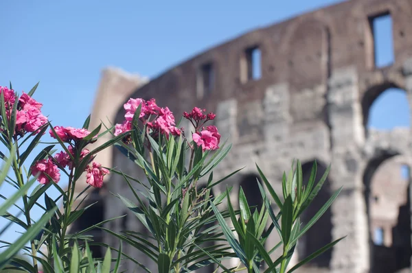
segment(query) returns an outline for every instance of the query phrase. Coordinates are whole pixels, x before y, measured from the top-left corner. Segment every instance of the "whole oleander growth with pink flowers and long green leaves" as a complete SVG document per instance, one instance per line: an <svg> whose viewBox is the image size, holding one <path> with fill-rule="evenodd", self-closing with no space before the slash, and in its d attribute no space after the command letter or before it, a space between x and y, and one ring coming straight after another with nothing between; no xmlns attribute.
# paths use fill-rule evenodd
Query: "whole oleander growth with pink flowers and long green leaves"
<svg viewBox="0 0 412 273"><path fill-rule="evenodd" d="M170 109L157 106L155 99L130 98L124 104L124 121L114 126L100 124L89 130L90 116L82 128L52 126L41 112L43 104L33 98L37 86L21 95L11 84L0 86L0 189L3 183L14 189L7 196L0 191L0 215L8 223L0 227L0 237L15 225L25 230L14 242L1 237L0 272L127 272L123 268L127 260L139 267L138 272L196 272L214 266L215 272L285 273L294 272L343 239L290 265L299 238L340 192L336 191L308 224L302 224L299 217L317 198L329 168L315 181L314 163L309 180L304 181L301 163L296 161L282 181L269 182L256 165L263 183L256 181L260 192L255 194L262 195L263 205L255 208L249 206L241 188L239 199L231 200L232 187L225 186L227 178L241 169L214 178L214 169L231 150L231 144L221 141L214 126L214 113L194 107L181 117L190 128L179 128L180 122ZM54 141L42 141L46 133ZM113 137L89 150L87 145L104 134ZM39 145L45 147L27 163ZM107 168L95 161L98 152L113 147L124 154L125 160L133 161L146 178L141 180L121 168ZM82 206L89 188L102 187L109 173L128 185L133 200L111 194L146 228L144 235L139 230L116 233L106 228L105 223L118 217L71 232L71 225L94 205ZM67 187L60 187L60 176L65 176ZM80 179L86 180L88 187L75 194ZM282 193L275 192L273 183L282 184ZM226 190L215 196L211 194L214 187ZM48 194L52 189L58 192L56 198ZM276 213L273 206L277 206ZM10 213L11 208L17 208L18 215ZM34 208L44 211L39 219L35 219ZM92 228L117 238L119 247L93 241L87 234ZM266 242L271 233L279 236L273 246L267 244L271 241ZM106 248L103 259L93 257L90 246L95 244ZM122 250L124 244L129 246L128 252ZM133 249L156 269L131 257ZM275 251L280 254L273 259ZM229 259L238 264L229 266Z"/></svg>

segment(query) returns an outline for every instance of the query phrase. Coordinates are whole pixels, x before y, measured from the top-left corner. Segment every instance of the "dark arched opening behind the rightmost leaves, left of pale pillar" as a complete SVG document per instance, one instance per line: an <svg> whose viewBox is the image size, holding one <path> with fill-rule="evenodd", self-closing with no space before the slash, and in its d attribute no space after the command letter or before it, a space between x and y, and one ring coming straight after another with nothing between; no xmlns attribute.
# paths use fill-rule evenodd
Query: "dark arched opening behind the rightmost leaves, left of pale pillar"
<svg viewBox="0 0 412 273"><path fill-rule="evenodd" d="M314 161L302 165L303 182L308 185L310 173L312 171ZM317 174L315 177L315 185L323 174L325 174L326 166L317 161ZM310 219L328 202L331 197L330 180L326 178L323 187L318 195L312 200L306 211L301 214L300 220L302 227L306 226ZM305 259L313 252L319 250L323 246L332 242L332 211L328 209L321 218L299 239L297 244L297 253L299 260ZM317 268L318 270L328 270L330 260L332 259L332 249L323 252L319 257L304 265L305 268Z"/></svg>

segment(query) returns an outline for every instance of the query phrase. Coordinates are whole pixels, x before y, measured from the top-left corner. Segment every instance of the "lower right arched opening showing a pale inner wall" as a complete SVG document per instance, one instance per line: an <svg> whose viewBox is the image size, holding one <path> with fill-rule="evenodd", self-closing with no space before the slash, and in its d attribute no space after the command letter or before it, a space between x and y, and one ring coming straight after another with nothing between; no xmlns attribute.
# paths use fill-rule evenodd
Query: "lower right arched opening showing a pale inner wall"
<svg viewBox="0 0 412 273"><path fill-rule="evenodd" d="M371 272L398 272L411 265L409 167L406 158L382 152L365 169Z"/></svg>

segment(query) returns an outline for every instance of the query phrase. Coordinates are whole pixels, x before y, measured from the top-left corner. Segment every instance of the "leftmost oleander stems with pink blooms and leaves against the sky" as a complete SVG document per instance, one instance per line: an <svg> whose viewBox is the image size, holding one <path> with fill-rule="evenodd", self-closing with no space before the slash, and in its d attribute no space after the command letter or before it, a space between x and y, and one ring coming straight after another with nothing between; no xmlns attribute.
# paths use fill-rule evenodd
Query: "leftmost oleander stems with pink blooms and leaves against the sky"
<svg viewBox="0 0 412 273"><path fill-rule="evenodd" d="M13 244L1 242L7 249L0 254L0 266L1 268L7 266L8 270L27 270L28 272L38 272L39 268L43 267L43 272L58 272L56 265L59 265L62 270L70 267L69 250L73 242L91 239L83 235L90 228L76 234L68 233L69 226L88 209L87 207L82 209L79 209L79 206L73 207L74 202L82 203L87 197L85 192L91 187L87 187L80 195L75 196L76 182L86 172L87 182L95 187L99 186L100 180L107 171L95 163L93 158L97 152L115 143L122 136L115 137L95 150L87 150L85 148L87 144L96 141L108 131L96 136L100 132L101 126L99 126L89 132L87 130L89 118L82 129L53 127L47 117L41 113L42 104L32 98L36 87L37 84L29 93L23 92L20 96L14 93L11 84L10 88L0 87L0 141L10 154L6 157L1 153L5 166L1 171L0 181L5 181L16 189L16 193L9 198L0 195L5 200L1 206L0 215L10 221L8 226L14 223L25 230ZM49 145L43 148L26 168L25 161L34 152L34 148L41 143L41 137L47 129L57 142L46 143ZM57 150L55 147L60 147L62 151L53 156ZM8 174L9 168L12 175ZM67 189L62 189L58 185L60 172L68 178ZM36 180L40 184L32 189ZM47 195L46 191L50 187L58 190L57 198L50 198ZM40 202L41 198L44 198L44 205ZM19 199L23 201L23 206L14 204ZM57 205L59 201L62 201L61 210ZM19 215L8 213L10 206L17 207L23 219L20 219ZM31 214L34 207L44 211L37 221L34 221ZM4 230L5 228L1 232L3 233ZM30 246L26 246L27 242ZM32 262L16 257L19 251L28 255ZM56 263L56 259L59 259L61 263Z"/></svg>

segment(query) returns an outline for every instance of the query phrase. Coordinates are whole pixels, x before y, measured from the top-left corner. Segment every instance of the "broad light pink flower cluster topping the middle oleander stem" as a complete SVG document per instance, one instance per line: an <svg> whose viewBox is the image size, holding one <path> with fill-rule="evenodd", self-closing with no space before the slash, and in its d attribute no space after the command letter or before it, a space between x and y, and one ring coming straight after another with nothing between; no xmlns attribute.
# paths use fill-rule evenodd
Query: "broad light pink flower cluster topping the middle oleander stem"
<svg viewBox="0 0 412 273"><path fill-rule="evenodd" d="M168 107L160 108L157 106L155 99L145 101L141 98L130 98L123 106L124 110L126 110L126 114L124 115L125 121L116 124L115 136L131 130L131 122L133 121L133 116L139 105L141 105L139 119L152 130L152 134L156 135L160 133L165 134L166 136L169 136L169 134L179 136L181 134L181 130L175 126L176 123L174 121L173 113ZM150 117L155 118L152 119L152 121L149 121ZM128 142L130 139L124 141Z"/></svg>

